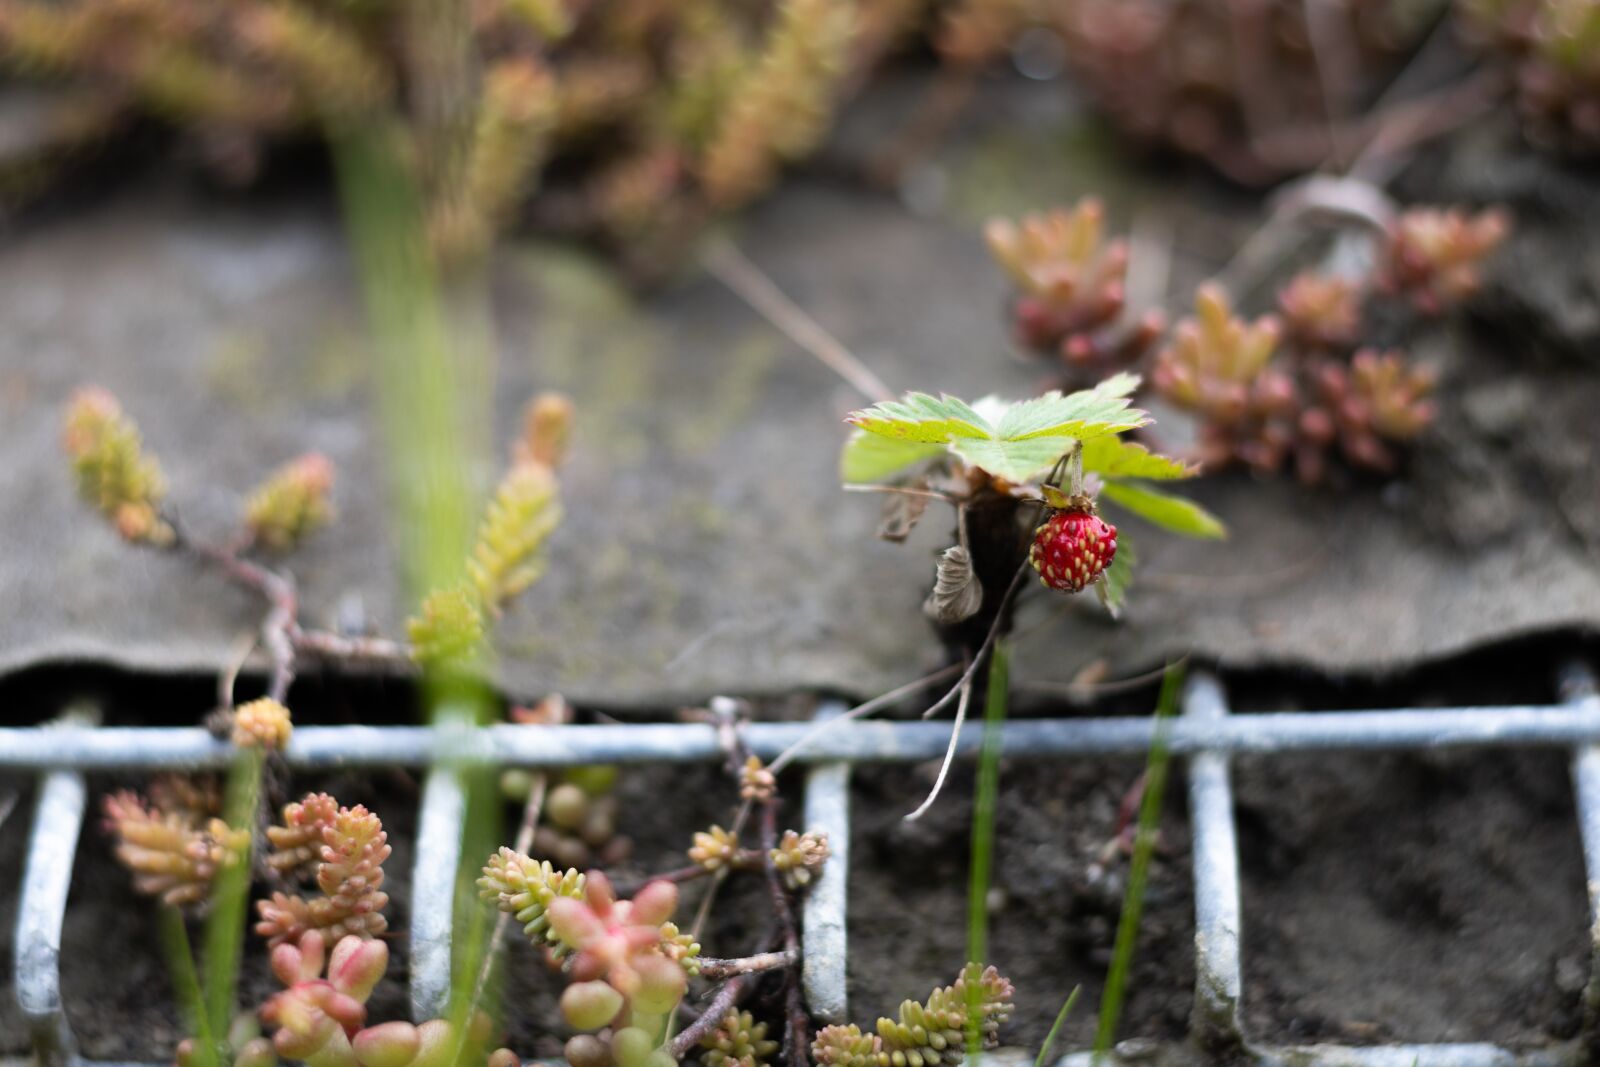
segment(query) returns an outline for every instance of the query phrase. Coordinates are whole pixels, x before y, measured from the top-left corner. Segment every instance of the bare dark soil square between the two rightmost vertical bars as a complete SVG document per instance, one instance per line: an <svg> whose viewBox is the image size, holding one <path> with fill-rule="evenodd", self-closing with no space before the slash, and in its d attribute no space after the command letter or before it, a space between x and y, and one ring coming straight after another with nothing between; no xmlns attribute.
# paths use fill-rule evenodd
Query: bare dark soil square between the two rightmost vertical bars
<svg viewBox="0 0 1600 1067"><path fill-rule="evenodd" d="M1253 1037L1576 1033L1587 910L1563 755L1248 758L1235 787Z"/></svg>

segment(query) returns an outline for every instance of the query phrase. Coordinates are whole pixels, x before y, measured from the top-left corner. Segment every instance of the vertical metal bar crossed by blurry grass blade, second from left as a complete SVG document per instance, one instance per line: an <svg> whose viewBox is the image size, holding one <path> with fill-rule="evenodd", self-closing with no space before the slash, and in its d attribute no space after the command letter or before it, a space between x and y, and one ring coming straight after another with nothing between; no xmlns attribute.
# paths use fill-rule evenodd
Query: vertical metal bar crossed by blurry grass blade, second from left
<svg viewBox="0 0 1600 1067"><path fill-rule="evenodd" d="M411 867L411 1019L416 1022L443 1016L450 1001L456 875L466 822L464 773L456 765L435 766L422 782Z"/></svg>

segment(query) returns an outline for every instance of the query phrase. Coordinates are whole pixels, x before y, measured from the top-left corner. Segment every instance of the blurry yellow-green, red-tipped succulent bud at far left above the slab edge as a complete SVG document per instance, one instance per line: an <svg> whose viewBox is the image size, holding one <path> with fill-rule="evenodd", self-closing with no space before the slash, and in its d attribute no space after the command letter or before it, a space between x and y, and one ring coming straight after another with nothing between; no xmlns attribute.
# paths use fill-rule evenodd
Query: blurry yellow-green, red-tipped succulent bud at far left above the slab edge
<svg viewBox="0 0 1600 1067"><path fill-rule="evenodd" d="M139 427L104 389L86 386L72 395L62 430L78 496L110 520L123 539L165 545L173 528L160 515L166 478L144 454Z"/></svg>

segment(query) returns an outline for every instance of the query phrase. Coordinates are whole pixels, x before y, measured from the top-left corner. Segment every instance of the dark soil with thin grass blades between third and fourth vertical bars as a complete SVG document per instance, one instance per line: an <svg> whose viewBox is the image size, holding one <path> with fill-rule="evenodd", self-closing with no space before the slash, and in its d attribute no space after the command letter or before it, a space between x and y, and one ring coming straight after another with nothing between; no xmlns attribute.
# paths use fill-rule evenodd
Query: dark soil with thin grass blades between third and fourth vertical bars
<svg viewBox="0 0 1600 1067"><path fill-rule="evenodd" d="M1038 1048L1075 985L1083 995L1061 1048L1093 1040L1128 870L1126 854L1110 843L1118 805L1142 766L1141 760L1002 765L989 960L1018 987L1008 1045ZM920 1000L947 984L966 953L973 771L957 771L922 821L902 822L933 774L933 766L856 773L850 1005L862 1027L894 1014L907 997ZM1174 776L1120 1037L1176 1040L1186 1032L1194 907L1182 793Z"/></svg>

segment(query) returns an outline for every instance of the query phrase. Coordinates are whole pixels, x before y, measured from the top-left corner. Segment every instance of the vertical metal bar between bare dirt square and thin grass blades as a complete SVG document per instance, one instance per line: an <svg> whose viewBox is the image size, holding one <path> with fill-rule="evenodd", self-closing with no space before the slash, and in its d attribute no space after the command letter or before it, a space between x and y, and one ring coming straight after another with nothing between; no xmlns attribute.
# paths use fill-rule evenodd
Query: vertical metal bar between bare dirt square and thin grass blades
<svg viewBox="0 0 1600 1067"><path fill-rule="evenodd" d="M1227 697L1211 675L1184 686L1181 723L1218 728L1227 721ZM1190 1027L1208 1048L1240 1048L1242 987L1238 963L1238 841L1234 835L1234 787L1227 755L1198 752L1189 760L1189 824L1195 878L1195 1003Z"/></svg>

